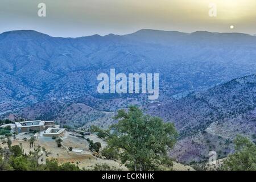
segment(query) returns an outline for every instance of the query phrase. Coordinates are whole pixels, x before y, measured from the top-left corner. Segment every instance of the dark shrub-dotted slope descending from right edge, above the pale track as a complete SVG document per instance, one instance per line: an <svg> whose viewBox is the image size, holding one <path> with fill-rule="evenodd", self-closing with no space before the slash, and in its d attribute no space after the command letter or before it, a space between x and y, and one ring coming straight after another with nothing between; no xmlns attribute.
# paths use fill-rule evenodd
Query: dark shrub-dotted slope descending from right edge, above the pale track
<svg viewBox="0 0 256 182"><path fill-rule="evenodd" d="M236 118L254 110L256 75L236 78L208 90L193 92L179 100L162 102L158 109L155 107L152 105L150 113L166 121L175 121L180 131L190 134L203 131L204 125L208 127L211 122Z"/></svg>

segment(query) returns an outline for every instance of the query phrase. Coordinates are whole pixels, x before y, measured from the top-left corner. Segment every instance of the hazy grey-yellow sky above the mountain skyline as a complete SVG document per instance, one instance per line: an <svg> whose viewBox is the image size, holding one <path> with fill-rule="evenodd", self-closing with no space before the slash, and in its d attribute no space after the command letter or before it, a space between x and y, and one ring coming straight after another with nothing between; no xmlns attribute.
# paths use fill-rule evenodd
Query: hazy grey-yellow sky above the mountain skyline
<svg viewBox="0 0 256 182"><path fill-rule="evenodd" d="M46 3L46 17L38 4ZM216 3L217 17L210 17ZM234 29L230 29L230 26ZM142 28L256 34L255 0L0 0L0 32L51 36L129 34Z"/></svg>

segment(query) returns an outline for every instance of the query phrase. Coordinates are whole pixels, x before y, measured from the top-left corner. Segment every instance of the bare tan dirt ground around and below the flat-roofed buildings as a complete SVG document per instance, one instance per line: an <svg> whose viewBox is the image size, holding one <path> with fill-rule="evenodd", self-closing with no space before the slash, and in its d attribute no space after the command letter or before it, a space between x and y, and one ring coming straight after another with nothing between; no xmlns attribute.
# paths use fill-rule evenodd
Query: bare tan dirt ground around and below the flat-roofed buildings
<svg viewBox="0 0 256 182"><path fill-rule="evenodd" d="M26 154L29 154L30 144L29 142L24 142L23 138L30 138L31 134L19 134L15 140L12 139L12 145L22 144L22 148ZM80 136L80 137L77 137ZM40 137L36 134L35 146L40 145L41 147L46 148L47 152L51 152L48 158L55 158L59 163L71 162L77 164L79 168L93 169L95 164L108 164L109 166L126 169L124 166L120 166L118 162L114 160L106 160L101 158L96 158L93 156L92 152L89 150L89 143L86 139L81 138L81 135L71 132L66 132L63 139L63 146L57 147L57 144L54 139L51 137L43 137L41 134ZM86 135L85 138L93 140L93 142L100 142L102 147L106 146L104 140L98 138L96 135ZM6 147L6 144L3 145L0 143L0 147ZM69 151L68 148L72 147L74 149L83 150L81 153ZM33 148L31 150L34 150Z"/></svg>

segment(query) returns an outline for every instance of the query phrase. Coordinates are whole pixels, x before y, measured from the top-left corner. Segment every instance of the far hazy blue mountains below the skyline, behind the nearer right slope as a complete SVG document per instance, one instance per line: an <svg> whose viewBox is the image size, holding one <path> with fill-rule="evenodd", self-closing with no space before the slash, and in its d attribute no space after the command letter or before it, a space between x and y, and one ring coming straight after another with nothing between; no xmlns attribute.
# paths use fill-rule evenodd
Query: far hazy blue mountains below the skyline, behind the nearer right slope
<svg viewBox="0 0 256 182"><path fill-rule="evenodd" d="M4 32L0 34L0 113L48 100L102 97L96 90L97 75L109 73L110 68L159 73L162 98L209 88L255 73L255 48L254 36L205 31L140 30L81 38Z"/></svg>

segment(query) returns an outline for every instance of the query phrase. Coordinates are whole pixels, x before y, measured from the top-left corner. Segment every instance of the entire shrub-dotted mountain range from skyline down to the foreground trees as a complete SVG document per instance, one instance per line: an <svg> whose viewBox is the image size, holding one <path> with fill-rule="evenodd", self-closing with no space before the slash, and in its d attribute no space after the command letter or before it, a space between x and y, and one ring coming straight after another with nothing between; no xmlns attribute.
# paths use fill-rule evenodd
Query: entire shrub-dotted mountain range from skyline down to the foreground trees
<svg viewBox="0 0 256 182"><path fill-rule="evenodd" d="M129 35L55 38L36 31L0 34L0 117L109 126L115 111L139 105L174 122L171 155L204 160L232 152L236 134L254 139L256 37L238 33L140 30ZM97 75L159 73L159 100L98 94ZM217 143L217 144L216 144Z"/></svg>

